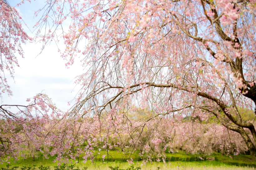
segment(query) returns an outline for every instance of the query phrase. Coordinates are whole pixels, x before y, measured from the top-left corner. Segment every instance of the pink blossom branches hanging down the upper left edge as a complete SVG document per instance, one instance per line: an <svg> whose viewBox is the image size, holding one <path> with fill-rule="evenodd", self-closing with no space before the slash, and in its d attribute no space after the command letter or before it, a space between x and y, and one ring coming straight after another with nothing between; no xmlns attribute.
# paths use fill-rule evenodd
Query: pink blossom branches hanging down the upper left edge
<svg viewBox="0 0 256 170"><path fill-rule="evenodd" d="M11 7L6 0L0 0L0 97L2 93L12 95L4 76L5 72L13 78L13 68L15 65L19 66L17 55L23 57L21 44L32 40L22 28L21 19L14 7Z"/></svg>

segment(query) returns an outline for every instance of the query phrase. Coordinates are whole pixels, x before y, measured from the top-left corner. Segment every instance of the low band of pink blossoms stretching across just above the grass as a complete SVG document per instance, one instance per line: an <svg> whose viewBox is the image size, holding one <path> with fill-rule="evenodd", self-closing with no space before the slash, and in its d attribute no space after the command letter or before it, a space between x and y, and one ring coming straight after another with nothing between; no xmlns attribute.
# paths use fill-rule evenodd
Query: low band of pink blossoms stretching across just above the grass
<svg viewBox="0 0 256 170"><path fill-rule="evenodd" d="M145 162L154 161L153 157L157 158L156 161L165 162L165 153L180 150L190 154L220 152L232 155L248 152L238 133L218 123L201 123L198 118L187 120L183 117L183 122L180 122L178 117L166 117L160 121L151 119L144 122L135 121L132 113L117 114L115 118L112 113L101 117L74 118L70 113L61 113L52 107L46 96L38 95L34 102L38 102L39 106L41 102L45 103L53 113L37 108L36 104L29 111L36 117L27 114L26 118L2 119L1 162L8 162L10 157L6 155L17 159L23 150L27 151L26 155L21 155L25 158L32 156L35 159L38 152L42 152L45 158L57 156L55 161L62 163L74 163L81 155L84 162L93 161L101 155L100 152L105 153L101 156L104 161L109 150L124 154L138 150ZM39 110L44 114L40 116ZM133 163L132 159L127 161Z"/></svg>

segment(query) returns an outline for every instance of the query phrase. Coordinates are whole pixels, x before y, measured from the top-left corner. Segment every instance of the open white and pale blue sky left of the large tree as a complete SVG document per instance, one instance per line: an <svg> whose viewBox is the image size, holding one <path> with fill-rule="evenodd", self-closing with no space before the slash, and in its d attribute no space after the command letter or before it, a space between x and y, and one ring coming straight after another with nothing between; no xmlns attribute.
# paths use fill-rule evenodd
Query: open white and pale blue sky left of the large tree
<svg viewBox="0 0 256 170"><path fill-rule="evenodd" d="M20 0L10 0L11 6L16 6ZM43 0L25 1L16 9L22 16L24 23L31 29L37 20L33 18L34 11L43 5ZM33 33L23 24L26 32L33 37ZM54 43L46 46L40 53L42 44L29 43L23 45L24 58L18 57L20 67L15 67L14 80L7 75L8 85L11 86L13 95L2 94L1 104L26 105L27 98L32 98L38 93L47 94L57 108L68 110L71 105L67 102L75 98L81 86L74 84L75 77L83 73L79 58L75 63L66 68L66 61L60 57ZM14 111L14 110L13 110Z"/></svg>

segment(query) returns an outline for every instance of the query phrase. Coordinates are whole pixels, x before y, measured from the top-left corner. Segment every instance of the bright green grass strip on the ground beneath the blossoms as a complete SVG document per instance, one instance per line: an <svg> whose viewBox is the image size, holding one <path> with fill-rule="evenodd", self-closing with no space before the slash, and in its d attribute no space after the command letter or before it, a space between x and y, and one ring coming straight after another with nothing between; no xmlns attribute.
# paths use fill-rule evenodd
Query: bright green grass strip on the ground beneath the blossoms
<svg viewBox="0 0 256 170"><path fill-rule="evenodd" d="M125 154L122 154L120 152L117 152L115 150L112 150L109 152L109 160L105 158L103 161L101 158L101 155L106 154L103 152L100 152L100 154L96 157L96 161L94 163L91 163L90 161L87 161L86 163L82 163L81 160L79 163L75 164L76 168L84 169L87 167L87 170L91 169L110 169L111 167L119 167L121 169L129 168L131 164L129 164L126 160L128 159L128 156ZM199 156L204 158L204 160L199 159ZM25 170L28 167L33 167L33 165L36 165L36 167L46 167L49 166L50 169L54 169L55 166L57 166L57 163L54 163L55 157L50 157L49 159L45 159L42 154L39 154L38 157L33 160L31 157L27 159L20 158L16 163L12 160L10 165L11 167L19 167ZM168 169L175 169L175 170L186 170L186 169L202 169L202 170L254 170L256 167L255 160L250 155L234 155L231 158L229 156L224 156L219 153L212 154L210 156L204 156L202 154L200 155L191 155L191 154L185 154L182 151L179 153L168 153L166 154L166 163L163 163L162 161L157 162L148 162L145 165L142 163L142 160L139 160L138 154L132 154L131 158L134 161L134 167L141 167L142 170L156 170L157 167L160 167L161 170L168 170ZM136 161L137 160L137 161ZM74 164L74 162L73 162ZM71 164L70 164L71 165ZM7 168L7 164L0 165L1 169ZM10 167L9 167L10 168ZM19 169L17 168L17 169ZM32 169L32 168L30 168Z"/></svg>

